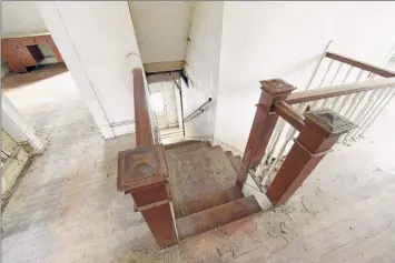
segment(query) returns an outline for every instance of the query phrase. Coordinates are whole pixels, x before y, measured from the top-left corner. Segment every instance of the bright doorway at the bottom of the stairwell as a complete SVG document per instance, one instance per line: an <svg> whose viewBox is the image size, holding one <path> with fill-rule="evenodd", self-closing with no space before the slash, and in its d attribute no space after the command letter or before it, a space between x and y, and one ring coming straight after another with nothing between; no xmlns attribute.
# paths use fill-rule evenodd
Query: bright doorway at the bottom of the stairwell
<svg viewBox="0 0 395 263"><path fill-rule="evenodd" d="M148 85L154 115L161 141L172 143L184 138L181 98L174 80Z"/></svg>

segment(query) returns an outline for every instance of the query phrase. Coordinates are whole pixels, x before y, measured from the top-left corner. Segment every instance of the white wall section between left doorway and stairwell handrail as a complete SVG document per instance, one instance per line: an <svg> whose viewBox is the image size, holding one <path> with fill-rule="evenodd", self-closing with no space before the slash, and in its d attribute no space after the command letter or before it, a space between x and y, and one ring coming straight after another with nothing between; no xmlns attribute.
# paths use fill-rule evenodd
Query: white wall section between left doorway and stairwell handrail
<svg viewBox="0 0 395 263"><path fill-rule="evenodd" d="M132 68L141 68L126 1L38 2L105 138L134 132Z"/></svg>

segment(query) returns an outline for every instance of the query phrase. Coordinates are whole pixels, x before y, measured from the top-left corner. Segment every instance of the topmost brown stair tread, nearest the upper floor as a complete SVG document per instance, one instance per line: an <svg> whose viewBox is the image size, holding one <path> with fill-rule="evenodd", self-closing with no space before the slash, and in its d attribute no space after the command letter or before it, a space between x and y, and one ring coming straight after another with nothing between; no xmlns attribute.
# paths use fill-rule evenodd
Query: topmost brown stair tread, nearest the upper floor
<svg viewBox="0 0 395 263"><path fill-rule="evenodd" d="M254 195L176 220L180 240L200 234L261 211Z"/></svg>

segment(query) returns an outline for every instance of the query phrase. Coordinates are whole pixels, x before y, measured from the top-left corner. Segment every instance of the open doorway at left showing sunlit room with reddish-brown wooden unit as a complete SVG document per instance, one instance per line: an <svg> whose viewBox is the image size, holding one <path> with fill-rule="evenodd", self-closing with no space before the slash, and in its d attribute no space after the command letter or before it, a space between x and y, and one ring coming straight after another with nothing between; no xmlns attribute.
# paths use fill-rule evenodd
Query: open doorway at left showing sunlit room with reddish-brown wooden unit
<svg viewBox="0 0 395 263"><path fill-rule="evenodd" d="M37 135L45 141L60 125L90 118L36 3L3 2L1 27L2 94Z"/></svg>

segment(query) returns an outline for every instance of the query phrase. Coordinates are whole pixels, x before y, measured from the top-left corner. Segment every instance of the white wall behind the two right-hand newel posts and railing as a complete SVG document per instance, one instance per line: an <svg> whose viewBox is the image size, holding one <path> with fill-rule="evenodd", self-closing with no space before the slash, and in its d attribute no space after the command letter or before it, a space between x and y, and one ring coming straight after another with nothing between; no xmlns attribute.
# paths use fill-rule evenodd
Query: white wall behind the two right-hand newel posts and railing
<svg viewBox="0 0 395 263"><path fill-rule="evenodd" d="M244 150L259 80L304 88L326 43L382 64L395 43L395 2L225 2L215 136Z"/></svg>

